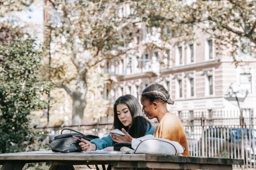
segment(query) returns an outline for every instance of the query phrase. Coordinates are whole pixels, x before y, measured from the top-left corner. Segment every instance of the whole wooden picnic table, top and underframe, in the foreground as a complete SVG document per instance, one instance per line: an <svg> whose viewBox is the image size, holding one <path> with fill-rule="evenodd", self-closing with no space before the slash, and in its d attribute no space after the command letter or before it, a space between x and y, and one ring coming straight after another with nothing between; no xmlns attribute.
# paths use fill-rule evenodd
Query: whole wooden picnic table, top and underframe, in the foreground
<svg viewBox="0 0 256 170"><path fill-rule="evenodd" d="M50 169L73 169L73 165L112 165L112 169L167 168L229 170L244 165L243 159L148 154L86 154L33 151L0 154L1 170L21 170L26 163L46 162Z"/></svg>

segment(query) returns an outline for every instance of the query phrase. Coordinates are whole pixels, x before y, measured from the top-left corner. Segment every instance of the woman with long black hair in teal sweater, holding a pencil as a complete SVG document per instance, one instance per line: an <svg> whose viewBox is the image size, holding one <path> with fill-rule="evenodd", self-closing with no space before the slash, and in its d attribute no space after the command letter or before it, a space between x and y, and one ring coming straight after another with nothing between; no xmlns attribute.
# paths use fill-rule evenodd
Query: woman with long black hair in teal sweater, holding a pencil
<svg viewBox="0 0 256 170"><path fill-rule="evenodd" d="M130 94L119 97L114 104L113 129L128 132L132 138L139 138L148 134L152 135L155 131L155 127L151 125L142 113L137 98ZM85 143L81 142L79 145L83 151L102 150L104 148L111 151L115 143L113 139L118 143L124 142L121 139L108 135L107 137L91 141L81 139Z"/></svg>

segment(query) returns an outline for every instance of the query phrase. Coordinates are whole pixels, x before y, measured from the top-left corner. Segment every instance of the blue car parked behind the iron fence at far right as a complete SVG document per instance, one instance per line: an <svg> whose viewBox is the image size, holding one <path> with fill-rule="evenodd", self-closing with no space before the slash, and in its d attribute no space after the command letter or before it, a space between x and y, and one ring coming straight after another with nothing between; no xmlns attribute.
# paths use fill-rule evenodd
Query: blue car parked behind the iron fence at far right
<svg viewBox="0 0 256 170"><path fill-rule="evenodd" d="M201 153L205 152L205 156L211 157L212 151L215 152L215 148L212 150L212 147L217 147L217 155L214 154L214 156L228 157L229 155L229 158L238 158L238 154L241 155L241 148L243 148L245 160L247 159L248 163L254 163L256 162L254 159L256 158L256 129L244 128L243 135L244 145L241 146L241 128L208 128L204 131L204 140L202 137L199 140ZM205 143L204 150L202 149L203 141ZM246 155L248 155L247 158Z"/></svg>

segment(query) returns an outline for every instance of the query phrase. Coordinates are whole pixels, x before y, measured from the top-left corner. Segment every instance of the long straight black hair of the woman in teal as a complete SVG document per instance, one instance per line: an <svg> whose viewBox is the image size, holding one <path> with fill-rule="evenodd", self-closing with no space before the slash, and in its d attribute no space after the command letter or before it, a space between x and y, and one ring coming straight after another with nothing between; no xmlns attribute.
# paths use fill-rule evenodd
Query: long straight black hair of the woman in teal
<svg viewBox="0 0 256 170"><path fill-rule="evenodd" d="M121 121L118 119L117 112L116 112L116 106L120 103L126 104L128 106L128 109L132 115L132 124L129 129L128 126L124 126ZM124 128L126 131L129 129L129 134L133 138L139 138L145 135L147 132L147 127L149 124L149 129L151 128L151 123L149 120L145 118L145 115L141 111L141 106L137 98L135 98L133 95L127 94L124 96L120 96L115 104L114 104L114 123L113 123L113 129L119 129L121 130Z"/></svg>

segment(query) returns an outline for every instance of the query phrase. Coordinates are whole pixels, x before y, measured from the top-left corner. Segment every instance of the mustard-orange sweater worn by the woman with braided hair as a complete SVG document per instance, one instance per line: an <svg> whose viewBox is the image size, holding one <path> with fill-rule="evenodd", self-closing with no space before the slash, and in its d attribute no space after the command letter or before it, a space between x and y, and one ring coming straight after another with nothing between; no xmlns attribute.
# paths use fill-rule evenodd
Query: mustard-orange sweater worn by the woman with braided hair
<svg viewBox="0 0 256 170"><path fill-rule="evenodd" d="M175 114L166 113L164 115L164 117L160 120L159 125L156 127L154 137L164 138L180 143L186 148L182 155L190 156L183 124L179 117Z"/></svg>

